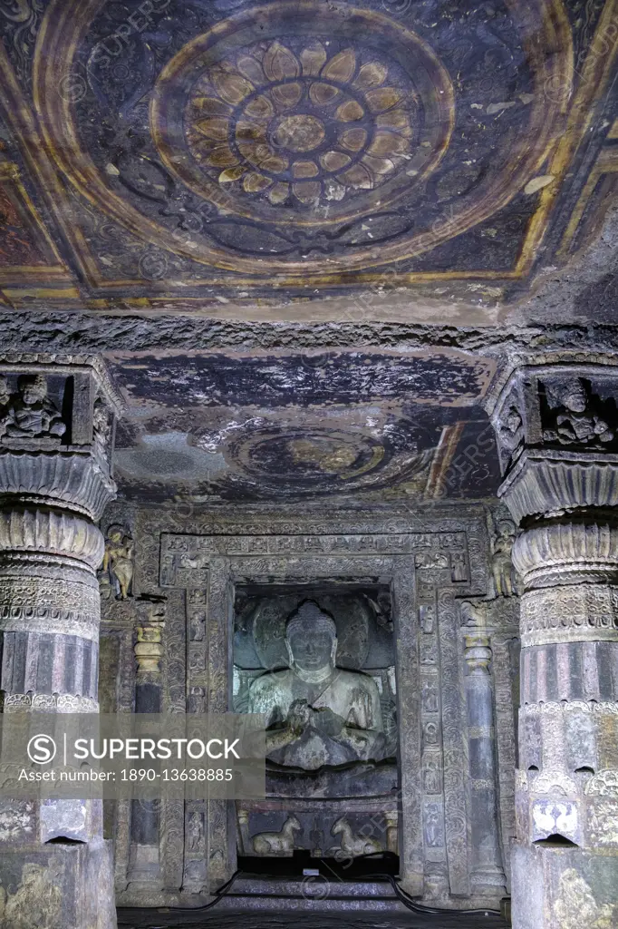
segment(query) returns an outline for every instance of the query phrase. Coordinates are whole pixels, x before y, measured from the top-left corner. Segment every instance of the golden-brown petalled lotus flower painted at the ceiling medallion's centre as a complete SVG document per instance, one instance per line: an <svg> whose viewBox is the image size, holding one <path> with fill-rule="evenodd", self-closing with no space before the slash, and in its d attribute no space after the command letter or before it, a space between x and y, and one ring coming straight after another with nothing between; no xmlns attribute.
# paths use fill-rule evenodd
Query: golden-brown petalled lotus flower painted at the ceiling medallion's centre
<svg viewBox="0 0 618 929"><path fill-rule="evenodd" d="M205 173L270 203L341 201L380 187L410 157L415 93L354 48L299 58L273 42L208 72L187 106L187 141ZM418 116L418 114L417 114Z"/></svg>

